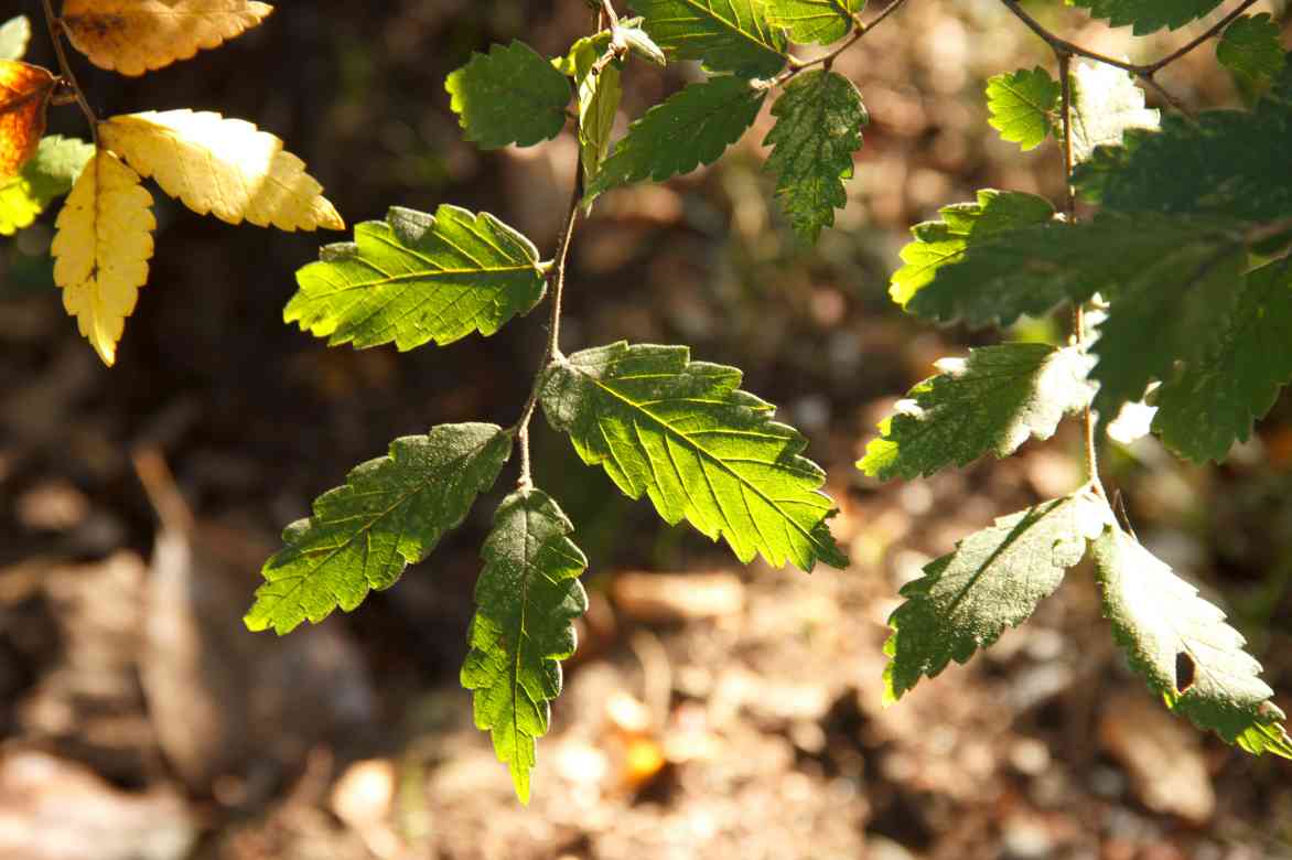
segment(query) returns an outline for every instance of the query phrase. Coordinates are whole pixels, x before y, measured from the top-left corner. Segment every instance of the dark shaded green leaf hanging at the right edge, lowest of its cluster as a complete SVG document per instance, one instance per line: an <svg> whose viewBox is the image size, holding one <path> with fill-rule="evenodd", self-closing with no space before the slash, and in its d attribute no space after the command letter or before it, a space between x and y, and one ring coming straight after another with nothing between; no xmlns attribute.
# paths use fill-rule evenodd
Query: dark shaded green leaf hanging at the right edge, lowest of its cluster
<svg viewBox="0 0 1292 860"><path fill-rule="evenodd" d="M1200 356L1156 395L1152 429L1176 453L1196 462L1225 457L1247 442L1279 389L1292 381L1292 262L1243 278L1238 309Z"/></svg>

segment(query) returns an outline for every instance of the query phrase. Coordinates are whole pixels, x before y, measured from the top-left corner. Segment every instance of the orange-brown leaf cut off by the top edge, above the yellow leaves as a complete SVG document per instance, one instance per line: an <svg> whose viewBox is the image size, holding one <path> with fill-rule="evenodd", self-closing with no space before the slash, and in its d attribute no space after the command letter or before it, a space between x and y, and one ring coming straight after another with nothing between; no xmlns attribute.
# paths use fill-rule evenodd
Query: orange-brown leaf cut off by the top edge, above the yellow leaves
<svg viewBox="0 0 1292 860"><path fill-rule="evenodd" d="M249 0L66 0L62 19L92 63L133 76L218 48L273 10Z"/></svg>

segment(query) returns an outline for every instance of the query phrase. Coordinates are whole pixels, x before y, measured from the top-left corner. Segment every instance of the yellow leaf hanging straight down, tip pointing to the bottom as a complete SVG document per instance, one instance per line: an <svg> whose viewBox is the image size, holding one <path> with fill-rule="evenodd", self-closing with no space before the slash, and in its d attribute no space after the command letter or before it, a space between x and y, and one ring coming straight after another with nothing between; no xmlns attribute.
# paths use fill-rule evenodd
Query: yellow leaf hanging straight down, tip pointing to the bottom
<svg viewBox="0 0 1292 860"><path fill-rule="evenodd" d="M50 248L54 283L63 288L63 307L109 367L149 279L156 229L151 207L140 174L99 150L58 214Z"/></svg>

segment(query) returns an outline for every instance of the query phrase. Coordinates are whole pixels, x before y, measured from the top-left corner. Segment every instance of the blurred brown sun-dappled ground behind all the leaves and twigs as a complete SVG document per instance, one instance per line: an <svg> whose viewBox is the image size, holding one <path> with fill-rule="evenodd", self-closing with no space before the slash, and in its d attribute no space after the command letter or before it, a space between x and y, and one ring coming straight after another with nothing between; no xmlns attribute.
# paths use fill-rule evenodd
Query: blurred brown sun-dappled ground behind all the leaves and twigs
<svg viewBox="0 0 1292 860"><path fill-rule="evenodd" d="M1057 1L1034 9L1134 59L1200 31L1132 44ZM193 107L274 132L351 223L453 203L550 254L575 142L479 152L443 79L491 41L562 53L588 19L581 0L282 3L145 79L78 68L102 115ZM44 37L30 59L52 65ZM598 203L572 254L566 351L683 342L743 368L828 469L853 566L740 567L540 426L537 483L578 527L592 607L528 808L457 686L477 551L514 464L353 615L283 639L240 616L278 529L353 465L434 424L516 420L541 314L448 349L328 350L282 307L333 239L229 227L158 194L151 278L107 371L52 284L52 218L0 244L0 857L1292 856L1287 762L1171 717L1125 669L1088 567L970 666L880 706L898 588L1083 480L1075 427L926 482L851 466L934 360L999 340L903 318L888 275L911 223L975 189L1058 196L1053 145L1001 143L982 96L987 76L1050 59L1000 4L911 0L836 66L872 121L817 249L771 199L766 111L720 167ZM696 74L633 62L621 125ZM1163 83L1198 107L1242 102L1209 46ZM79 119L56 111L52 130L84 136ZM1063 333L1034 320L1009 336ZM1145 440L1105 469L1292 710L1292 399L1221 467Z"/></svg>

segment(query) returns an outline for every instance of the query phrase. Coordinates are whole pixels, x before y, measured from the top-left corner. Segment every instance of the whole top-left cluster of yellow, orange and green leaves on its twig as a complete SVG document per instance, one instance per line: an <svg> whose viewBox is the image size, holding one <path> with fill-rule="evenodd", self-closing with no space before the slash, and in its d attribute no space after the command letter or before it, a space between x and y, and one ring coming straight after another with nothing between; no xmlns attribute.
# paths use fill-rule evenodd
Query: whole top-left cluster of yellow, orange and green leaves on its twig
<svg viewBox="0 0 1292 860"><path fill-rule="evenodd" d="M47 9L52 9L47 4ZM142 75L262 23L251 0L65 0L49 21L89 61ZM59 74L22 62L27 18L0 28L0 234L30 226L57 198L54 282L81 334L109 365L149 279L154 253L151 177L199 214L280 230L341 230L344 222L304 163L242 120L186 110L99 119L58 46ZM50 105L76 105L90 142L44 138Z"/></svg>

